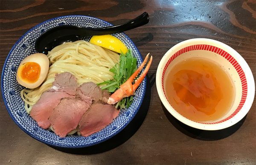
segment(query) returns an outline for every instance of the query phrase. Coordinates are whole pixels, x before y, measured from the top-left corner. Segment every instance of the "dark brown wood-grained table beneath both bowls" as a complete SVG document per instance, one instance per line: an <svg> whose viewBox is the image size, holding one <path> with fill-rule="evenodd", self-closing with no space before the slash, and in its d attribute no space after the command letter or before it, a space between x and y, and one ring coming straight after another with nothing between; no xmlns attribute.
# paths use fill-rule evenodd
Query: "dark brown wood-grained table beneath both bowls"
<svg viewBox="0 0 256 165"><path fill-rule="evenodd" d="M157 94L158 63L169 48L192 38L224 42L237 50L256 79L255 0L1 0L0 67L15 42L52 17L87 15L119 24L147 11L150 22L127 31L140 53L154 61L143 105L118 135L99 145L53 148L31 138L0 101L0 164L256 164L256 102L239 123L220 131L185 126Z"/></svg>

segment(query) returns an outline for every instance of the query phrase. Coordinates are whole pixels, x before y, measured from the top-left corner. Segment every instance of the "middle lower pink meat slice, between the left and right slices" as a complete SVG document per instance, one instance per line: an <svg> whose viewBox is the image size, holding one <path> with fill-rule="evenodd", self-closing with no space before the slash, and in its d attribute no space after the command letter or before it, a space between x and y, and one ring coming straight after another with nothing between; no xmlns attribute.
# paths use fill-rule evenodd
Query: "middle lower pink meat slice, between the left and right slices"
<svg viewBox="0 0 256 165"><path fill-rule="evenodd" d="M79 98L62 99L49 118L55 134L65 137L70 131L76 129L89 107L89 103Z"/></svg>

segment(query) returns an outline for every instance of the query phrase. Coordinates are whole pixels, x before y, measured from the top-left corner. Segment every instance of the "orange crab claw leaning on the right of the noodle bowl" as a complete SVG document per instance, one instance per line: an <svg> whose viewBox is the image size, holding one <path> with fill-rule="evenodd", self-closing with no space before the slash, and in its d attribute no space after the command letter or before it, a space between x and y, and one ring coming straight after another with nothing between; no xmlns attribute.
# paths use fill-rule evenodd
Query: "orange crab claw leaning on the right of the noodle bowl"
<svg viewBox="0 0 256 165"><path fill-rule="evenodd" d="M109 98L108 98L108 104L115 104L118 101L122 100L122 98L125 97L129 97L131 95L134 95L135 90L139 87L140 83L143 81L143 79L145 78L146 74L148 73L148 69L151 65L152 62L152 56L150 57L150 60L148 62L148 64L145 67L145 70L143 71L143 73L141 73L140 77L137 78L135 80L135 83L132 84L132 82L134 81L134 79L138 76L138 74L140 73L140 71L143 69L143 67L145 66L146 62L148 61L148 56L149 53L147 54L147 56L145 57L143 63L140 65L140 67L131 75L130 78L128 78L127 81L125 81L124 84L122 84L120 86L119 89L116 90L116 92L114 92Z"/></svg>

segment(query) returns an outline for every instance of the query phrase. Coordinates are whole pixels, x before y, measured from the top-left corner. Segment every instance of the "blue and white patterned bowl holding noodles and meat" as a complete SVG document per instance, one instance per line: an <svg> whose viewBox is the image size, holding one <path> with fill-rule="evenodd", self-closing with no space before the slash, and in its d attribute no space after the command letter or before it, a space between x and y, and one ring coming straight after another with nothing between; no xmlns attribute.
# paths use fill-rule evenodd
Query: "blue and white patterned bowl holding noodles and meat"
<svg viewBox="0 0 256 165"><path fill-rule="evenodd" d="M40 128L24 109L24 102L20 97L20 91L23 87L16 81L16 71L20 62L26 56L37 53L35 50L35 40L38 36L49 28L60 25L78 25L93 28L111 26L110 23L98 18L73 15L53 18L30 29L16 42L6 58L1 77L3 101L10 116L20 129L42 143L64 148L81 148L102 143L118 134L137 114L145 95L146 79L138 87L132 105L128 109L121 109L119 116L110 125L89 137L68 135L67 137L60 138L55 133ZM137 57L139 66L143 59L131 39L124 33L114 34L114 36L124 42L128 48L132 49L134 56ZM89 39L90 37L87 37L85 40L89 41Z"/></svg>

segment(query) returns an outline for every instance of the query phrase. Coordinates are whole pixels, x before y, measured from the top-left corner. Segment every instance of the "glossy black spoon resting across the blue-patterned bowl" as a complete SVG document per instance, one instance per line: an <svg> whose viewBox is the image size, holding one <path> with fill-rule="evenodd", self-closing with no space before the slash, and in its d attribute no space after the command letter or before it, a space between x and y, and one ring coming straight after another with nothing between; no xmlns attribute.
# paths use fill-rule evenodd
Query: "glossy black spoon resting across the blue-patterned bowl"
<svg viewBox="0 0 256 165"><path fill-rule="evenodd" d="M130 20L122 25L109 26L104 28L83 28L73 25L61 25L55 28L51 28L41 36L35 42L35 50L39 53L47 54L52 48L61 45L65 42L74 42L84 36L95 36L120 33L128 31L133 28L147 24L149 21L148 13L144 12L140 16Z"/></svg>

